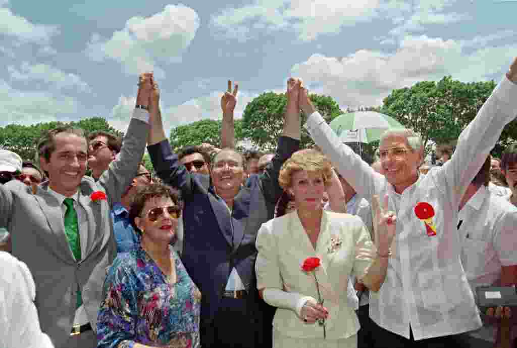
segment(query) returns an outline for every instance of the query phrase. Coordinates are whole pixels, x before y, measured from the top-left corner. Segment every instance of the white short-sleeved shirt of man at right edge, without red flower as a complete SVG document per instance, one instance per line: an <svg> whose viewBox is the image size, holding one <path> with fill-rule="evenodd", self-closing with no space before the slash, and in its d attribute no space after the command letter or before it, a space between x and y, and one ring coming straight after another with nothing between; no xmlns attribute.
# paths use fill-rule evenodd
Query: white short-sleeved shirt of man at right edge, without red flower
<svg viewBox="0 0 517 348"><path fill-rule="evenodd" d="M497 285L501 266L517 265L517 207L481 186L458 217L463 243L461 262L476 297L477 286ZM496 326L484 320L481 329L469 332L490 342L495 341L496 333Z"/></svg>

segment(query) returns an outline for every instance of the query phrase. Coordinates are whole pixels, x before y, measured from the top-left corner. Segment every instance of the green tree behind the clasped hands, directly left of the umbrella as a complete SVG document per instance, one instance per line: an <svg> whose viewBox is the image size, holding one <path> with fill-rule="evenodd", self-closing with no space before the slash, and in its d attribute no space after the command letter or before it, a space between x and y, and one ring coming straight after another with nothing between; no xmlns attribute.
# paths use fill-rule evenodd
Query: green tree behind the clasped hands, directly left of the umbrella
<svg viewBox="0 0 517 348"><path fill-rule="evenodd" d="M311 94L310 98L327 122L342 114L338 103L331 97ZM283 93L267 92L253 99L246 105L242 115L242 136L263 150L274 150L282 133L286 105L287 97ZM306 119L301 113L302 124ZM312 144L314 142L310 135L302 129L300 146L303 148Z"/></svg>

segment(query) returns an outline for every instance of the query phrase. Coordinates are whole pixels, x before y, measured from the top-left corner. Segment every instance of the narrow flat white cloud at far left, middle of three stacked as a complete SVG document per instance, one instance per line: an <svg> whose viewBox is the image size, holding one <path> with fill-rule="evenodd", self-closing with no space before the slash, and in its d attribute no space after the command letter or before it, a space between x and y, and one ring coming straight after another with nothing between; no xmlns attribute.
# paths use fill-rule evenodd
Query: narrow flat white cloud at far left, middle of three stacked
<svg viewBox="0 0 517 348"><path fill-rule="evenodd" d="M57 89L75 88L80 92L92 92L88 84L78 75L66 73L47 64L32 65L28 62L23 62L20 69L10 65L7 67L7 70L13 80L25 82L43 81L55 86Z"/></svg>

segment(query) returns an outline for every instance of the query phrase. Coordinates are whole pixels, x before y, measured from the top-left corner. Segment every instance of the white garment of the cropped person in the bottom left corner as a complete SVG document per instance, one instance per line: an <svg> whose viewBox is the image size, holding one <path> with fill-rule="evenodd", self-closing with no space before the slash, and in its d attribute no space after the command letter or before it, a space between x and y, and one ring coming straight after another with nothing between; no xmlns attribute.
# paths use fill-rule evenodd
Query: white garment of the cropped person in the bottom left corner
<svg viewBox="0 0 517 348"><path fill-rule="evenodd" d="M53 348L49 336L39 326L31 271L25 263L3 251L0 265L0 347Z"/></svg>

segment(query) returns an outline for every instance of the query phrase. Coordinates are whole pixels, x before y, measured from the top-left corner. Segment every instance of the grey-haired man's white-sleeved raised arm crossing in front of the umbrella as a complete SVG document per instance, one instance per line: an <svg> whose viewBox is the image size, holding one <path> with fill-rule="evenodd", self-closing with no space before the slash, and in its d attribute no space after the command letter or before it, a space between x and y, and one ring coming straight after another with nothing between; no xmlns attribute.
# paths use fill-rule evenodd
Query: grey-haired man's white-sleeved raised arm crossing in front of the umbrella
<svg viewBox="0 0 517 348"><path fill-rule="evenodd" d="M312 105L306 88L301 89L299 100L300 109L308 116L305 128L309 131L312 140L336 165L338 172L354 190L370 200L372 195L378 193L384 185L384 176L376 173L368 163L339 139Z"/></svg>

